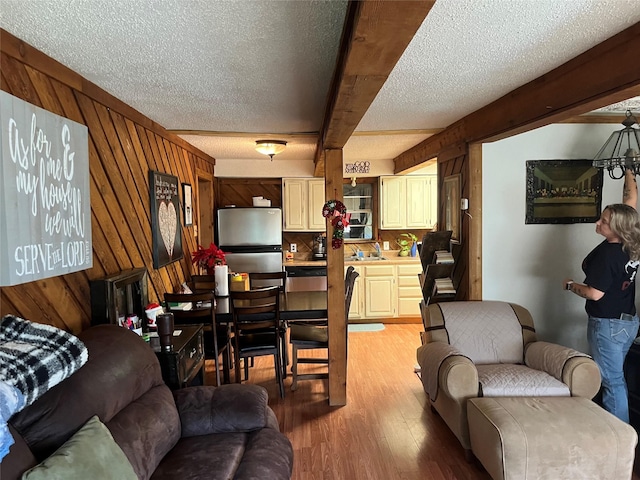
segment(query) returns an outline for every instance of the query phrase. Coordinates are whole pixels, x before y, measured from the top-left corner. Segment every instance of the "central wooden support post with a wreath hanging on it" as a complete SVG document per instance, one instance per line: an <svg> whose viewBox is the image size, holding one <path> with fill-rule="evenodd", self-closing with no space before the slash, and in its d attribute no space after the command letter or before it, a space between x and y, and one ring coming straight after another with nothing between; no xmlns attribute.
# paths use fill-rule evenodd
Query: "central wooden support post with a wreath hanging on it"
<svg viewBox="0 0 640 480"><path fill-rule="evenodd" d="M325 198L343 201L342 149L325 150ZM331 246L327 222L327 305L329 317L329 405L347 404L347 321L344 313L344 245Z"/></svg>

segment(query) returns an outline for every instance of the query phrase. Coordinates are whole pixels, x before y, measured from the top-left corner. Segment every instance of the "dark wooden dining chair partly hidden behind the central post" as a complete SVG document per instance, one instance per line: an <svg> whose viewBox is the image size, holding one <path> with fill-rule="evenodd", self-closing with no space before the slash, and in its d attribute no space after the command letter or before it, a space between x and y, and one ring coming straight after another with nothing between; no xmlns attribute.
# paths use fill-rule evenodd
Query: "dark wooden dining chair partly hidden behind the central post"
<svg viewBox="0 0 640 480"><path fill-rule="evenodd" d="M353 285L356 278L360 275L355 271L355 268L349 266L344 279L344 315L345 330L348 330L349 323L349 308L351 307L351 297L353 295ZM294 323L290 327L289 340L291 342L292 352L292 364L291 373L293 381L291 383L291 390L298 388L298 380L312 380L329 378L329 333L326 320L322 323ZM326 357L300 357L298 356L299 350L325 350ZM316 373L298 373L298 364L320 364L327 365L327 371Z"/></svg>

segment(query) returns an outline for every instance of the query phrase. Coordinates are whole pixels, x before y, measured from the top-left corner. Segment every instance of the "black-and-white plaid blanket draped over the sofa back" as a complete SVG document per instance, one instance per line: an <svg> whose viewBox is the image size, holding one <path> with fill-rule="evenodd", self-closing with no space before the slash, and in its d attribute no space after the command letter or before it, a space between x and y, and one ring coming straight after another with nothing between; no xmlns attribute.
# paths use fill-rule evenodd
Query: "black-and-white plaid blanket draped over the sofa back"
<svg viewBox="0 0 640 480"><path fill-rule="evenodd" d="M89 354L74 335L13 315L0 320L0 381L17 388L24 405L69 377Z"/></svg>

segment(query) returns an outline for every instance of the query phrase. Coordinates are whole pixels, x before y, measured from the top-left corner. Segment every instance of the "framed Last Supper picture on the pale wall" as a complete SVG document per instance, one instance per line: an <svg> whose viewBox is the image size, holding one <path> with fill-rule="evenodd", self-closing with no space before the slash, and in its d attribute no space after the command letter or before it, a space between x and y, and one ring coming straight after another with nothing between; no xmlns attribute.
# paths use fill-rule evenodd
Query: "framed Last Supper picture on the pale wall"
<svg viewBox="0 0 640 480"><path fill-rule="evenodd" d="M529 223L595 223L602 206L602 169L592 160L527 160Z"/></svg>

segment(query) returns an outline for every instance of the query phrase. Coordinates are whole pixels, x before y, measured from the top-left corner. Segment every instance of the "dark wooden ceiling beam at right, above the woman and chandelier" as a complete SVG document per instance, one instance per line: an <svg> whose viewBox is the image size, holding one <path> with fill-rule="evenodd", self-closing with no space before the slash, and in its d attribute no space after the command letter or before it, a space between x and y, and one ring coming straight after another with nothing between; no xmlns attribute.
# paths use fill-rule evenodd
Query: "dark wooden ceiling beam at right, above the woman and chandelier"
<svg viewBox="0 0 640 480"><path fill-rule="evenodd" d="M519 87L395 159L405 172L465 143L495 141L640 95L640 23Z"/></svg>

